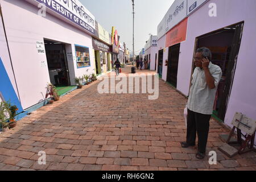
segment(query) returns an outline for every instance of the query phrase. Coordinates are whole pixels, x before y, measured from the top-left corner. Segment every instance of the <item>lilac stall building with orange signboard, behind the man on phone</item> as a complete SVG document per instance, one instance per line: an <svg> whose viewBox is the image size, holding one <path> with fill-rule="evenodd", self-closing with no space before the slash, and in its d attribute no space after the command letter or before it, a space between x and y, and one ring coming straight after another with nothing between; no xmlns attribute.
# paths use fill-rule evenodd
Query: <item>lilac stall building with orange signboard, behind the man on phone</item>
<svg viewBox="0 0 256 182"><path fill-rule="evenodd" d="M158 26L162 78L185 96L196 49L212 51L222 69L213 114L228 126L236 112L256 119L255 7L254 0L176 0Z"/></svg>

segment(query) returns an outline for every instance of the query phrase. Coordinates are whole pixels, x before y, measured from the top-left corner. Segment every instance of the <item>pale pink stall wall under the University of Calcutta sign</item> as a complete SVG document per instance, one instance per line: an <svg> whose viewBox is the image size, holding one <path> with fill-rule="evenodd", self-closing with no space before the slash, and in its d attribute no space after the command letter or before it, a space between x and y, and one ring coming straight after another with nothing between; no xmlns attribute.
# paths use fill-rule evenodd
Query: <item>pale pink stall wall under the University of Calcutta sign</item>
<svg viewBox="0 0 256 182"><path fill-rule="evenodd" d="M13 59L16 81L23 108L44 100L46 84L49 82L48 67L41 67L46 55L36 51L36 41L44 38L66 43L67 52L75 56L74 44L89 47L91 67L77 69L73 60L68 61L71 82L75 76L93 73L94 55L92 38L85 32L71 26L54 16L39 16L38 7L20 0L0 0L5 20L10 52ZM73 70L71 70L71 68Z"/></svg>

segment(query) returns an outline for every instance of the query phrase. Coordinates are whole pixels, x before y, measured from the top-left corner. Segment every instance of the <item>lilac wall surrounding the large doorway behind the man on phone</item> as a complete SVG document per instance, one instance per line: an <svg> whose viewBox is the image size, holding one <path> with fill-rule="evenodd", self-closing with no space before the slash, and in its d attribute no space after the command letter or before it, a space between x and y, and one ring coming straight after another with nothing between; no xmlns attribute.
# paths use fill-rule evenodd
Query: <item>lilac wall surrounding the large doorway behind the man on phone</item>
<svg viewBox="0 0 256 182"><path fill-rule="evenodd" d="M210 17L208 15L209 3L216 3L217 17ZM177 89L187 95L191 78L195 38L231 24L245 21L232 93L225 117L225 123L229 126L236 111L256 119L255 7L255 0L209 1L189 16L187 40L181 43L180 47Z"/></svg>

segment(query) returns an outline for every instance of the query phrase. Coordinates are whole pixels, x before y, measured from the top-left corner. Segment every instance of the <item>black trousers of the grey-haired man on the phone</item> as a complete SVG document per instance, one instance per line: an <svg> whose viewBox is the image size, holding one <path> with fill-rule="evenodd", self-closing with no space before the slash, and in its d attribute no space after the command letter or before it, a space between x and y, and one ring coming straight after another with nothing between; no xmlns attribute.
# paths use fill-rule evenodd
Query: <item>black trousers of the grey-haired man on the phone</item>
<svg viewBox="0 0 256 182"><path fill-rule="evenodd" d="M196 134L198 137L197 150L205 153L210 126L210 116L208 114L195 113L188 109L187 118L187 143L196 145Z"/></svg>

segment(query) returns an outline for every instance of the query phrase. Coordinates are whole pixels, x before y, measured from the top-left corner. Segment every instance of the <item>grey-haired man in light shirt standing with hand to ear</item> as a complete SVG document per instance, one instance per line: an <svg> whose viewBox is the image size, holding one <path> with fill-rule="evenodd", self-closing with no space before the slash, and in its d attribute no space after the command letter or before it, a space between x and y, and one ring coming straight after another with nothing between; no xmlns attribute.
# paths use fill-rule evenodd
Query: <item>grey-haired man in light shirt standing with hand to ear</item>
<svg viewBox="0 0 256 182"><path fill-rule="evenodd" d="M210 49L201 47L196 50L193 63L195 71L192 75L191 89L188 97L187 141L181 142L181 147L196 145L198 137L197 159L204 159L209 133L210 117L220 82L221 68L210 62Z"/></svg>

